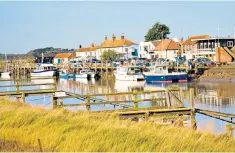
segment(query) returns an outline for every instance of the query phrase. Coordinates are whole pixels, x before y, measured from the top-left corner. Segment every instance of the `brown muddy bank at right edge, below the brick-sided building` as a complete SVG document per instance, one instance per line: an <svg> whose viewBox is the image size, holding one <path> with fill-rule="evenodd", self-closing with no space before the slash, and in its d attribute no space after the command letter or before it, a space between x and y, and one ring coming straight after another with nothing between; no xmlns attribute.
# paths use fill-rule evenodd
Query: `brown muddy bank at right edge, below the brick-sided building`
<svg viewBox="0 0 235 153"><path fill-rule="evenodd" d="M199 77L200 82L235 82L235 68L211 68Z"/></svg>

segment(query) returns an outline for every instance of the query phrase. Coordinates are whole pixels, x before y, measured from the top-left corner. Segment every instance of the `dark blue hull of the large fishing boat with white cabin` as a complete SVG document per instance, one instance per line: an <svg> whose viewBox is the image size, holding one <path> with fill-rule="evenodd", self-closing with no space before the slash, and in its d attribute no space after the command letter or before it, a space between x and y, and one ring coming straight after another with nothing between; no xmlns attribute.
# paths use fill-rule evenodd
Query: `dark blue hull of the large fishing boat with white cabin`
<svg viewBox="0 0 235 153"><path fill-rule="evenodd" d="M187 82L188 74L187 73L178 73L178 74L144 74L146 82Z"/></svg>

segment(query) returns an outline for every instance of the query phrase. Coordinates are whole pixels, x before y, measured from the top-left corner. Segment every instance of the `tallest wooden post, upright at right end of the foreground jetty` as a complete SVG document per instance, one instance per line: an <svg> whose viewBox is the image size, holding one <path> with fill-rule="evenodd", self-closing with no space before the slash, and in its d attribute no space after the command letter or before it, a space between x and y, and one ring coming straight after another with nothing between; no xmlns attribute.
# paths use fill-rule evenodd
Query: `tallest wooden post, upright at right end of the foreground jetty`
<svg viewBox="0 0 235 153"><path fill-rule="evenodd" d="M191 108L191 128L196 129L195 108L194 108L194 88L189 88L189 101Z"/></svg>

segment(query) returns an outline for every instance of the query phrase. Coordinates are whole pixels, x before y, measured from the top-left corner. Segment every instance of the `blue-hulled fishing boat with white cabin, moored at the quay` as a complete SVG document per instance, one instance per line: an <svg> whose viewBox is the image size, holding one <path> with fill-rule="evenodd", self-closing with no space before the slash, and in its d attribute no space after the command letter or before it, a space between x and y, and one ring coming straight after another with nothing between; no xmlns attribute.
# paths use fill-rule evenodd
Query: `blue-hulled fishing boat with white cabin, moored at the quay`
<svg viewBox="0 0 235 153"><path fill-rule="evenodd" d="M147 72L143 72L147 83L172 83L187 82L188 74L186 72L170 72L167 64L154 65L148 68Z"/></svg>

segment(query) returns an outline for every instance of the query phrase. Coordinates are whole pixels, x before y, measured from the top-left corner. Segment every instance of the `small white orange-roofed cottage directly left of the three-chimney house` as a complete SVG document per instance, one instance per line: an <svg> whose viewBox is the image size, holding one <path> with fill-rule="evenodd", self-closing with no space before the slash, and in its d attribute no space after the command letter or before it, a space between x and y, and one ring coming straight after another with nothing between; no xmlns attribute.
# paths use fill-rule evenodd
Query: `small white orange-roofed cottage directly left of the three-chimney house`
<svg viewBox="0 0 235 153"><path fill-rule="evenodd" d="M98 46L91 44L90 47L81 47L76 51L76 58L80 60L87 60L88 58L97 57Z"/></svg>

